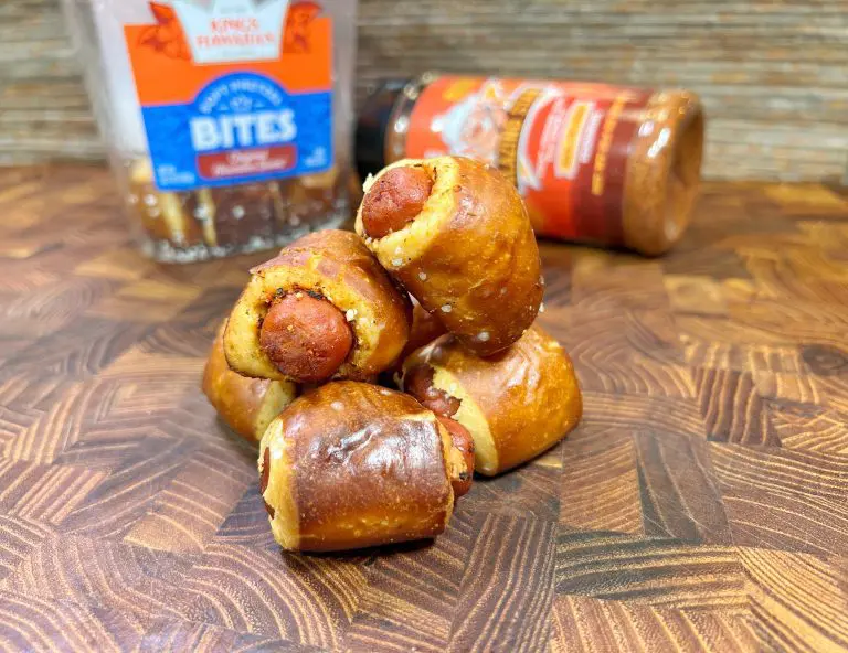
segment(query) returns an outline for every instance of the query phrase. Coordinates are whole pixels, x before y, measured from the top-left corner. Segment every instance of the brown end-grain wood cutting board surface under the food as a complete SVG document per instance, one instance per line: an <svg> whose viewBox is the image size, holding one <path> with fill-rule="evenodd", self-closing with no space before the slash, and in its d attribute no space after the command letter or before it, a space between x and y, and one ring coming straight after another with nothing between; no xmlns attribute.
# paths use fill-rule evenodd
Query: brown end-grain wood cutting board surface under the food
<svg viewBox="0 0 848 653"><path fill-rule="evenodd" d="M582 425L433 544L285 555L199 390L256 259L0 172L0 649L848 650L848 202L710 185L668 257L547 244Z"/></svg>

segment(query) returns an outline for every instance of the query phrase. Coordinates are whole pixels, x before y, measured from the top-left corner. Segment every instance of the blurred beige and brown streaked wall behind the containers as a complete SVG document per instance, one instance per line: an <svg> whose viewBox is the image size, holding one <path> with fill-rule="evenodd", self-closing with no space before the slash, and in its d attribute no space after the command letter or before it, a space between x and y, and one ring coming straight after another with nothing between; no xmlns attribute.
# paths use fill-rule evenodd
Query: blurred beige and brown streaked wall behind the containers
<svg viewBox="0 0 848 653"><path fill-rule="evenodd" d="M360 1L359 98L430 68L690 87L709 176L846 174L848 0ZM55 158L102 158L59 0L6 0L0 163Z"/></svg>

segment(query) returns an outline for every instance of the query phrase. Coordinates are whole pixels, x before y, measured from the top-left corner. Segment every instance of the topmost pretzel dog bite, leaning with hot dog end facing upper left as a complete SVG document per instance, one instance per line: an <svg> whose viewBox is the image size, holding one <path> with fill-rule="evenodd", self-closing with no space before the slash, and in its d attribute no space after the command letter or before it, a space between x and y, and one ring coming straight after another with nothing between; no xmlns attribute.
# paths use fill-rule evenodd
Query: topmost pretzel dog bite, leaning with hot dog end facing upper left
<svg viewBox="0 0 848 653"><path fill-rule="evenodd" d="M470 159L406 159L365 184L357 233L382 266L480 356L516 342L542 300L518 191Z"/></svg>

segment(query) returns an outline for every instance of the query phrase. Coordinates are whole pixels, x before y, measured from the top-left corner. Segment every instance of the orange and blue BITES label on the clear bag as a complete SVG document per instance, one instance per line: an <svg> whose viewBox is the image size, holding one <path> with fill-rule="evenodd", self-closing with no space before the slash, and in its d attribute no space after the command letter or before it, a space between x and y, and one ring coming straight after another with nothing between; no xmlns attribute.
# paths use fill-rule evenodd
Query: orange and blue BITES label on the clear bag
<svg viewBox="0 0 848 653"><path fill-rule="evenodd" d="M150 2L125 25L160 191L327 171L332 25L311 1Z"/></svg>

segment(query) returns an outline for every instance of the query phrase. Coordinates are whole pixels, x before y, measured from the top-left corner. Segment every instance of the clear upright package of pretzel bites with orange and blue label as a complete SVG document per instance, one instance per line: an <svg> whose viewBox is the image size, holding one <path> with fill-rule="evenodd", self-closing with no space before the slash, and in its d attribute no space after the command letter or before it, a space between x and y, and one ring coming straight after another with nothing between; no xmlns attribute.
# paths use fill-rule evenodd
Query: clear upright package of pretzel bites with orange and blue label
<svg viewBox="0 0 848 653"><path fill-rule="evenodd" d="M351 0L64 0L142 250L187 263L350 217Z"/></svg>

